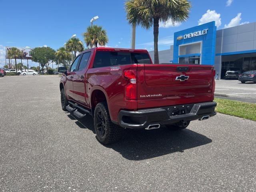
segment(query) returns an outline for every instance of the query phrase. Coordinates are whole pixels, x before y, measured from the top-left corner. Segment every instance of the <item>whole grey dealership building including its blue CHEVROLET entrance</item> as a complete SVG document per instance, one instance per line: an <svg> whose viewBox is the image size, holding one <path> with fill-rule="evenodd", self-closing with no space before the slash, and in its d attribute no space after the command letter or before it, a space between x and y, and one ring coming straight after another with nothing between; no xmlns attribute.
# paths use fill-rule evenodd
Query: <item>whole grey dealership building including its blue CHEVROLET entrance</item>
<svg viewBox="0 0 256 192"><path fill-rule="evenodd" d="M213 65L218 79L229 68L256 70L256 22L216 30L213 21L175 32L170 49L159 51L159 62Z"/></svg>

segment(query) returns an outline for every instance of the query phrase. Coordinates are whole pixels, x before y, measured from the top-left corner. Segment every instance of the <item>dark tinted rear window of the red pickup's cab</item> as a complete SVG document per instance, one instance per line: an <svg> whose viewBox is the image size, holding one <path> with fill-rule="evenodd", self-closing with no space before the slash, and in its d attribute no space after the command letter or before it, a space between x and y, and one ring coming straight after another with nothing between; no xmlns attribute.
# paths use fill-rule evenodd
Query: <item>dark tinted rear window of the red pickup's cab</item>
<svg viewBox="0 0 256 192"><path fill-rule="evenodd" d="M127 64L149 64L150 58L146 53L97 51L93 67L106 67Z"/></svg>

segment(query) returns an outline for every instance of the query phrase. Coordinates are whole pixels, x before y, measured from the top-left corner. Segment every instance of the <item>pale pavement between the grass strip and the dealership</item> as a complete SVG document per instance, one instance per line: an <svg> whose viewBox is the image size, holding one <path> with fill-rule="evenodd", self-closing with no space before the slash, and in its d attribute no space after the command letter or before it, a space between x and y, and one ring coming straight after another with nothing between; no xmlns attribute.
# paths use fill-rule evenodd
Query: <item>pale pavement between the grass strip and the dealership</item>
<svg viewBox="0 0 256 192"><path fill-rule="evenodd" d="M215 95L218 98L256 103L256 84L238 80L216 80Z"/></svg>

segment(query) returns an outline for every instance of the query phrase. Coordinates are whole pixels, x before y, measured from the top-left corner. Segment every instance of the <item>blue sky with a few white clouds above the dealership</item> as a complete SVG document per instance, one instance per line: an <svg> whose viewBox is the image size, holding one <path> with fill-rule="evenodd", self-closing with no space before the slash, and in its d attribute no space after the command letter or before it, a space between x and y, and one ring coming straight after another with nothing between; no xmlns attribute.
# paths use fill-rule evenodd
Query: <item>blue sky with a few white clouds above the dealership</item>
<svg viewBox="0 0 256 192"><path fill-rule="evenodd" d="M58 49L73 34L83 41L82 33L90 19L106 29L107 46L130 48L131 27L126 20L125 0L0 0L0 67L5 64L5 46L31 48L50 46ZM159 50L173 44L173 34L186 28L216 21L217 30L256 22L255 0L192 0L189 19L172 26L160 24ZM136 48L153 50L153 30L138 26ZM31 63L31 65L36 65Z"/></svg>

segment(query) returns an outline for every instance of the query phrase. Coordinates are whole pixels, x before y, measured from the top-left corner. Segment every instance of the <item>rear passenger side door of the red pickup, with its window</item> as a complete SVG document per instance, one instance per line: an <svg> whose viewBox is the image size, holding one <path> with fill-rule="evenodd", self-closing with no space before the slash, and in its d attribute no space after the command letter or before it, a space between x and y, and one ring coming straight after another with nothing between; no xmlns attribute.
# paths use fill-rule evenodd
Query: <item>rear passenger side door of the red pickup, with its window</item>
<svg viewBox="0 0 256 192"><path fill-rule="evenodd" d="M90 55L91 52L85 52L84 54L81 54L80 64L77 68L77 71L74 72L73 78L73 98L84 106L88 106L88 103L86 102L88 95L86 94L85 73Z"/></svg>

